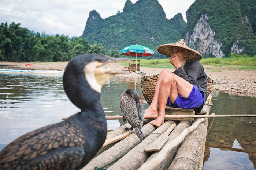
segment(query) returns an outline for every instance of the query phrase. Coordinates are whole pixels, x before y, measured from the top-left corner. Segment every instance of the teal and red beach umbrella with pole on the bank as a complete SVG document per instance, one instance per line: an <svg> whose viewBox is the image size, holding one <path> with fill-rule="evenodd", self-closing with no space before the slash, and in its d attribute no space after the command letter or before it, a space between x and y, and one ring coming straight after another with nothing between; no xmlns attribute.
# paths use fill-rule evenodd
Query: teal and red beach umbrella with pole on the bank
<svg viewBox="0 0 256 170"><path fill-rule="evenodd" d="M152 56L155 54L155 51L149 49L146 46L142 46L142 45L130 45L127 46L125 48L123 48L122 50L120 50L120 54L121 55L129 55L132 57L136 56L136 70L135 73L137 73L137 57L142 57L142 56Z"/></svg>

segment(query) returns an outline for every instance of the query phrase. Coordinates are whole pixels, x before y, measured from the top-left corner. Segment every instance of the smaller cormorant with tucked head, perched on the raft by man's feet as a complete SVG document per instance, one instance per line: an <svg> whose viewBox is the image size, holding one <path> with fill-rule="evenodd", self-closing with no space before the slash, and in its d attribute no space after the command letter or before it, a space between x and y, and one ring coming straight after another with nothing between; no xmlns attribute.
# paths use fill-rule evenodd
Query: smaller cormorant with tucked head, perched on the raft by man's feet
<svg viewBox="0 0 256 170"><path fill-rule="evenodd" d="M136 135L142 141L144 135L141 131L144 120L144 108L140 102L140 94L134 89L127 89L120 95L120 108L123 112L123 122L127 120L135 129Z"/></svg>

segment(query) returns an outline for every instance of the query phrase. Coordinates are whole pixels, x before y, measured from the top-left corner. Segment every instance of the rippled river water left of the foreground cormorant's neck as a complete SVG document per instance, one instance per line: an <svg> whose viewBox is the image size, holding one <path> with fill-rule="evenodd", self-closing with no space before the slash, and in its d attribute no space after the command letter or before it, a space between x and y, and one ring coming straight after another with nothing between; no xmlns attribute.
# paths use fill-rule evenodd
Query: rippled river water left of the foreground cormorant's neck
<svg viewBox="0 0 256 170"><path fill-rule="evenodd" d="M64 93L62 75L0 74L0 89L0 145L79 110Z"/></svg>

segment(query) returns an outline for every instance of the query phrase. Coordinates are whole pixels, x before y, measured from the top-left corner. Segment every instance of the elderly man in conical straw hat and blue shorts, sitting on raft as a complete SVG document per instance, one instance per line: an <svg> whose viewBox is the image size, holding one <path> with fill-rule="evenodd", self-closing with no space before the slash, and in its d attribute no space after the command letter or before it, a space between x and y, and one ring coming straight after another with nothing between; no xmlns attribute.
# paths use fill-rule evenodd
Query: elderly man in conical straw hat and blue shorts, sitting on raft
<svg viewBox="0 0 256 170"><path fill-rule="evenodd" d="M152 103L145 110L144 118L156 118L151 124L159 127L164 123L167 103L176 108L193 108L197 114L208 95L207 75L199 61L202 59L199 52L190 49L183 39L175 44L161 45L157 51L170 57L176 68L174 72L165 69L159 74Z"/></svg>

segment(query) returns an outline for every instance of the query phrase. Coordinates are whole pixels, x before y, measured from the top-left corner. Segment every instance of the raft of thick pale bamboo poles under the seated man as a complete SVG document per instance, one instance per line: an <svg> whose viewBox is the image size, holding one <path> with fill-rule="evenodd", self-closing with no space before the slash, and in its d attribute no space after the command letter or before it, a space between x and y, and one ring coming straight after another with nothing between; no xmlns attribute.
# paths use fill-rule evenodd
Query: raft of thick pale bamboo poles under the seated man
<svg viewBox="0 0 256 170"><path fill-rule="evenodd" d="M200 113L210 113L211 97L210 90L209 97ZM148 103L151 102L148 101ZM166 108L166 115L180 114L194 115L194 111L193 109L168 111ZM101 150L82 170L203 169L205 141L209 131L208 121L205 121L207 119L166 118L165 123L158 128L149 123L152 119L144 119L142 132L146 138L142 142L136 133L133 133L134 131L125 131L125 127L131 127L127 123L108 132ZM212 120L213 117L210 123ZM165 143L163 143L164 138L167 138ZM162 146L157 146L161 143Z"/></svg>

